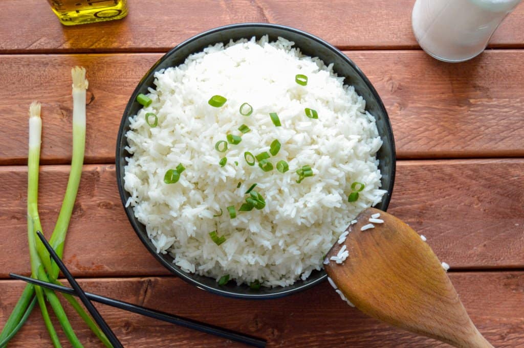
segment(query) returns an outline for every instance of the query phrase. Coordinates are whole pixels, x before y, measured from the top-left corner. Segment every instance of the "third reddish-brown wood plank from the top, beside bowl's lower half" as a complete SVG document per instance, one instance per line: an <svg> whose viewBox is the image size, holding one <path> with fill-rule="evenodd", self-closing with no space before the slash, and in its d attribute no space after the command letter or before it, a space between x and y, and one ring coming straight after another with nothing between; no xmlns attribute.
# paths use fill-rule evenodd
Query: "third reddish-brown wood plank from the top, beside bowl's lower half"
<svg viewBox="0 0 524 348"><path fill-rule="evenodd" d="M29 271L26 168L0 167L0 277ZM43 166L39 210L49 237L67 166ZM452 268L524 267L524 159L401 161L391 214L424 234ZM132 259L133 262L129 262ZM86 165L65 248L76 276L168 274L140 243L120 203L113 165Z"/></svg>

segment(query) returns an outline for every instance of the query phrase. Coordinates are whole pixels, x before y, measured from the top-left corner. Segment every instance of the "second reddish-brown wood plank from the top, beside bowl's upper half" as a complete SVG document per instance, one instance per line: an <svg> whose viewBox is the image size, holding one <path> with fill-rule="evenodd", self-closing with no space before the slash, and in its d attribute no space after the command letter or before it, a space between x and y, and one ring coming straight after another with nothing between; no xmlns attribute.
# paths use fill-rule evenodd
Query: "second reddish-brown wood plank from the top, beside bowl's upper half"
<svg viewBox="0 0 524 348"><path fill-rule="evenodd" d="M399 158L524 156L524 51L488 51L445 64L421 51L346 52L383 98ZM27 158L27 115L43 103L42 163L71 153L69 70L88 70L86 163L112 163L119 121L136 84L160 54L0 56L0 164Z"/></svg>

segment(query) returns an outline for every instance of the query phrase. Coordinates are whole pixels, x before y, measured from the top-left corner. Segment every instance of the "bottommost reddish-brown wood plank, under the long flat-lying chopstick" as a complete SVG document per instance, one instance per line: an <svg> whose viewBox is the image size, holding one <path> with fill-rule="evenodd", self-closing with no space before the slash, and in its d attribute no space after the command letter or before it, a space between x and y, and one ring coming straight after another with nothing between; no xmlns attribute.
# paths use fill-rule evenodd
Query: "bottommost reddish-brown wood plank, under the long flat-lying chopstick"
<svg viewBox="0 0 524 348"><path fill-rule="evenodd" d="M524 347L524 273L450 273L473 322L496 347ZM444 347L448 346L390 328L347 306L329 284L275 300L248 301L212 295L179 278L81 279L94 293L143 304L268 340L271 347ZM0 325L13 308L23 284L0 281ZM99 307L125 347L245 347L143 318ZM71 313L67 308L68 313ZM94 336L77 316L69 318L82 342L97 347ZM62 335L62 340L64 337ZM64 346L68 343L64 342ZM40 313L35 310L10 347L51 347Z"/></svg>

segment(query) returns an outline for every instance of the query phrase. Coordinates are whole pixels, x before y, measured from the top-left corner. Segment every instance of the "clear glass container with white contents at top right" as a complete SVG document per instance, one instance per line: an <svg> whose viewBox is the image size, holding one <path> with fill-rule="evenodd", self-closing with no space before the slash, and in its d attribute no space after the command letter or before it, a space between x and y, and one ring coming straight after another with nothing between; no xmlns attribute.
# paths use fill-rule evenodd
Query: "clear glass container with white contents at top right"
<svg viewBox="0 0 524 348"><path fill-rule="evenodd" d="M417 0L413 33L420 47L445 62L472 59L521 0Z"/></svg>

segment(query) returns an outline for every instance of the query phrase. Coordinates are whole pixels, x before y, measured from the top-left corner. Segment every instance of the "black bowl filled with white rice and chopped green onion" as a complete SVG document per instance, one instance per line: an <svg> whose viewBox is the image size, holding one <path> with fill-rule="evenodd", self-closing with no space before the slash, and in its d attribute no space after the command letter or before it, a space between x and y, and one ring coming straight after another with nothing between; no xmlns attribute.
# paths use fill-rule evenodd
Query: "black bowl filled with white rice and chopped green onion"
<svg viewBox="0 0 524 348"><path fill-rule="evenodd" d="M387 209L395 145L380 97L341 51L237 24L147 72L124 110L116 175L133 229L169 271L215 294L274 298L325 280L348 224Z"/></svg>

